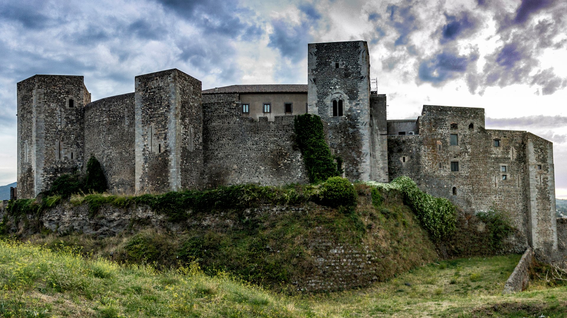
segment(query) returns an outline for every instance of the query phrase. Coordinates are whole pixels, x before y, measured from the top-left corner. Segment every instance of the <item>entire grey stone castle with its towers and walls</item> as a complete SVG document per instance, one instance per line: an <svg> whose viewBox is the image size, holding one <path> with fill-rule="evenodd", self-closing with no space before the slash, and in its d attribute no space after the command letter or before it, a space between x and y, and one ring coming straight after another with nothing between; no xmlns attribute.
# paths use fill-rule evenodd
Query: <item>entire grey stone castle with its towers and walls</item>
<svg viewBox="0 0 567 318"><path fill-rule="evenodd" d="M308 83L202 90L177 69L136 76L134 92L91 102L83 76L18 83L18 196L35 197L94 154L113 192L307 183L294 115L316 114L350 180L413 178L467 213L513 218L518 251L557 251L552 143L485 129L484 109L424 105L387 120L365 41L308 45Z"/></svg>

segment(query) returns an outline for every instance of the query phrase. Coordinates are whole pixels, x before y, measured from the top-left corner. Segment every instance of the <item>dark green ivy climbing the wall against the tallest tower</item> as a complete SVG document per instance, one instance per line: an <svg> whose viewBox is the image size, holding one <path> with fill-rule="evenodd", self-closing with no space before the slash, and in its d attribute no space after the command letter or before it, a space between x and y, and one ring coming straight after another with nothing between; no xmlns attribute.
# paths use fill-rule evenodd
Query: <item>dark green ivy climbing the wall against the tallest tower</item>
<svg viewBox="0 0 567 318"><path fill-rule="evenodd" d="M342 160L337 158L335 163L335 157L325 141L321 118L312 114L297 115L294 123L295 141L303 154L309 181L317 183L339 175Z"/></svg>

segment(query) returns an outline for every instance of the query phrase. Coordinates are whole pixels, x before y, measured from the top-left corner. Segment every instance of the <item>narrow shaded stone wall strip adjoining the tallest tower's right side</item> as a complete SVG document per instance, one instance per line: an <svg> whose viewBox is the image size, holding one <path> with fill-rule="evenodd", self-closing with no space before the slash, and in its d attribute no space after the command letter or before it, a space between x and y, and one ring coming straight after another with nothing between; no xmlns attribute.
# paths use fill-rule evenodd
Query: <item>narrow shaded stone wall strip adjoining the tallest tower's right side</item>
<svg viewBox="0 0 567 318"><path fill-rule="evenodd" d="M386 94L370 97L370 179L388 182Z"/></svg>

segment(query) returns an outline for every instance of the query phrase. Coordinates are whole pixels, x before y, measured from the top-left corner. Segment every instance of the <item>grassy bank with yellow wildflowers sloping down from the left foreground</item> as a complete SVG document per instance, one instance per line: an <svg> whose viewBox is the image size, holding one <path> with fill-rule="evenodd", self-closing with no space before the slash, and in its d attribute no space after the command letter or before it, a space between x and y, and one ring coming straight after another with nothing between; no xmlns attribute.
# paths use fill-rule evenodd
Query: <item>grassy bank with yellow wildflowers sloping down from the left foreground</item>
<svg viewBox="0 0 567 318"><path fill-rule="evenodd" d="M0 241L2 317L308 317L284 295L206 276L192 266L156 271L29 243Z"/></svg>

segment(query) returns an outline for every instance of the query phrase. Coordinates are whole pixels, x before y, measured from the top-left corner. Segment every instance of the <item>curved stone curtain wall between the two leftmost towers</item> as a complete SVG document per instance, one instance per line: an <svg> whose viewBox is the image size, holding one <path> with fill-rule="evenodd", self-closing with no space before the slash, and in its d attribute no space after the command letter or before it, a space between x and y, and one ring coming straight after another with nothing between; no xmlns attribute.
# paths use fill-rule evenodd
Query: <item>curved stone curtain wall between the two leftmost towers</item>
<svg viewBox="0 0 567 318"><path fill-rule="evenodd" d="M84 108L84 163L93 154L115 193L134 193L134 93L91 102Z"/></svg>

